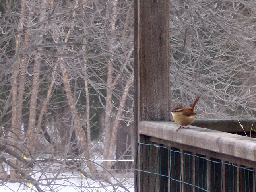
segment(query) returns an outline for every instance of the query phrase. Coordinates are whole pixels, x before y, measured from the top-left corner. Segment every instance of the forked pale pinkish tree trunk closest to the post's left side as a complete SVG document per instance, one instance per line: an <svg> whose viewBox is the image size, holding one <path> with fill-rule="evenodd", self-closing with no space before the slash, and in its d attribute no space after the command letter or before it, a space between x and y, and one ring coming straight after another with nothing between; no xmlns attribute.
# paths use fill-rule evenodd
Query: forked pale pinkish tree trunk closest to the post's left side
<svg viewBox="0 0 256 192"><path fill-rule="evenodd" d="M114 41L117 39L114 35L116 34L116 31L117 31L116 29L116 22L117 22L117 16L118 16L117 3L118 3L117 0L111 0L107 4L107 6L109 6L109 8L107 9L109 10L107 12L107 19L108 19L107 21L109 22L108 33L110 38L108 42L108 50L110 53L114 52L115 47L118 46L119 44L118 41ZM126 27L124 27L124 29L126 29ZM130 47L130 50L126 50L125 56L127 58L124 58L125 60L122 61L119 68L120 73L117 75L114 74L114 59L112 58L113 56L110 57L109 60L107 61L108 76L107 76L107 87L106 87L107 93L106 93L106 99L105 99L106 106L105 106L105 147L104 147L104 153L103 153L104 159L113 159L114 157L114 148L116 147L117 129L120 125L122 112L124 111L126 97L128 95L129 89L133 82L133 74L131 72L130 74L128 74L128 80L125 83L124 91L120 98L120 104L117 108L115 118L113 119L113 125L109 123L113 116L112 112L114 107L113 105L114 103L112 103L112 94L114 92L113 90L118 84L118 81L120 80L120 78L122 78L121 74L123 74L124 70L126 69L126 66L129 62L128 58L130 58L132 54L132 50L133 50L132 47ZM106 167L106 168L110 166L111 166L111 161L105 161L103 164L103 167Z"/></svg>

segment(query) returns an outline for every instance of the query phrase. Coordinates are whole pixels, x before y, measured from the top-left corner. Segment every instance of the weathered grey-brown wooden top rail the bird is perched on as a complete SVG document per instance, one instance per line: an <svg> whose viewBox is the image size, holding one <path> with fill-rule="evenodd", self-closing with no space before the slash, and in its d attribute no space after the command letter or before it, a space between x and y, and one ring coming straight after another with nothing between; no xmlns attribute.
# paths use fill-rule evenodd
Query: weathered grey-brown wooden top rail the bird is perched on
<svg viewBox="0 0 256 192"><path fill-rule="evenodd" d="M173 122L142 121L140 134L213 151L224 155L239 157L248 161L256 161L256 139L198 128L180 129Z"/></svg>

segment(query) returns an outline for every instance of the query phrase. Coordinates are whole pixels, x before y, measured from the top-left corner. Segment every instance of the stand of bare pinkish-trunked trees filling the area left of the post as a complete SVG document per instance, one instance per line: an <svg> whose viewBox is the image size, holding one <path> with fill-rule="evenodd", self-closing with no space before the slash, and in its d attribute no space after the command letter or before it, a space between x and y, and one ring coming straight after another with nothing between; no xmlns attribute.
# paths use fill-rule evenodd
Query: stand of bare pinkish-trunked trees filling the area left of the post
<svg viewBox="0 0 256 192"><path fill-rule="evenodd" d="M0 8L0 149L11 169L9 178L2 166L0 179L56 190L52 182L73 171L129 191L111 161L96 160L115 157L120 122L132 121L131 2L12 0Z"/></svg>

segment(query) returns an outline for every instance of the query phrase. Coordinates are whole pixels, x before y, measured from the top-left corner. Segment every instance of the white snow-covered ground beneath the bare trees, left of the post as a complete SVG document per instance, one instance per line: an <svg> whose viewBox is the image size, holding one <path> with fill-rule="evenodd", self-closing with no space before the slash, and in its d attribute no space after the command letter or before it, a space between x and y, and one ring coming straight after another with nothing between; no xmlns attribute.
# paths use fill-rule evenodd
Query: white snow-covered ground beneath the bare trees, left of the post
<svg viewBox="0 0 256 192"><path fill-rule="evenodd" d="M42 169L41 169L42 170ZM44 192L134 192L134 173L114 174L114 178L111 178L111 184L103 182L101 180L92 180L84 178L79 172L53 172L35 169L34 175L31 176L35 180L38 180L41 190ZM49 170L49 169L48 169ZM122 184L127 190L120 187ZM37 189L29 183L0 183L0 192L37 192Z"/></svg>

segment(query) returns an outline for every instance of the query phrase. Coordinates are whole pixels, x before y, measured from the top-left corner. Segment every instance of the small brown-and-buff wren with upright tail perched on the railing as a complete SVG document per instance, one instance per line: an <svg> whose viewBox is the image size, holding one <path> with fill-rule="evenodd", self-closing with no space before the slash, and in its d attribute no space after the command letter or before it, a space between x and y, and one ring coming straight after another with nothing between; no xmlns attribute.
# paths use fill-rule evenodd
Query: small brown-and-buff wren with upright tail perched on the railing
<svg viewBox="0 0 256 192"><path fill-rule="evenodd" d="M185 107L175 107L171 113L173 115L173 120L180 124L180 127L177 129L177 131L182 128L182 126L187 126L194 122L195 120L195 112L194 108L196 106L196 103L198 102L200 96L196 97L196 100L193 102L191 108L185 108ZM187 128L188 128L187 127Z"/></svg>

